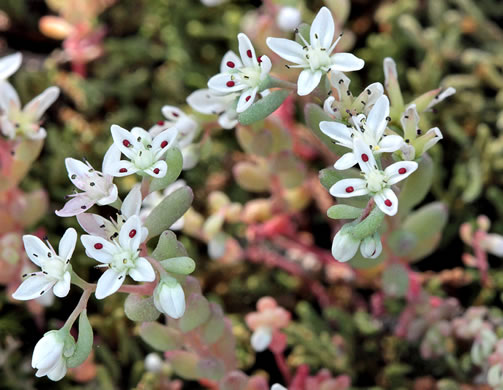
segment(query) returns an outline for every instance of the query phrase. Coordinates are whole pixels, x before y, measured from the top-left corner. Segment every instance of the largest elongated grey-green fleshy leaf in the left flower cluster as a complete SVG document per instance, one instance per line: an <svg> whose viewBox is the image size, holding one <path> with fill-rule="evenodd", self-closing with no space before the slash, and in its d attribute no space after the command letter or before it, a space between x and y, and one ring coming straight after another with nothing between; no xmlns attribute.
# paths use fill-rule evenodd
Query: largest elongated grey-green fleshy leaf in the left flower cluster
<svg viewBox="0 0 503 390"><path fill-rule="evenodd" d="M157 205L145 220L148 238L158 236L169 229L192 204L194 194L190 187L184 186L169 194Z"/></svg>

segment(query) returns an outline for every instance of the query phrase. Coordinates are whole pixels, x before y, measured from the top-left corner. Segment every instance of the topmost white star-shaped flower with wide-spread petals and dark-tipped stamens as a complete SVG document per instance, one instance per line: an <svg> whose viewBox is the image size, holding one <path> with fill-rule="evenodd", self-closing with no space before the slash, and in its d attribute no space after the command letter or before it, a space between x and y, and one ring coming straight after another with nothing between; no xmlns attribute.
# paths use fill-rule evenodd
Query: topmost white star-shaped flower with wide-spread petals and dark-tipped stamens
<svg viewBox="0 0 503 390"><path fill-rule="evenodd" d="M303 68L297 82L297 93L309 95L320 83L321 76L330 70L350 72L360 70L365 62L350 53L332 52L341 39L334 42L334 19L327 7L323 7L314 18L311 25L308 43L299 34L304 46L284 38L267 38L267 46L277 55L296 65L291 68ZM333 42L333 43L332 43Z"/></svg>

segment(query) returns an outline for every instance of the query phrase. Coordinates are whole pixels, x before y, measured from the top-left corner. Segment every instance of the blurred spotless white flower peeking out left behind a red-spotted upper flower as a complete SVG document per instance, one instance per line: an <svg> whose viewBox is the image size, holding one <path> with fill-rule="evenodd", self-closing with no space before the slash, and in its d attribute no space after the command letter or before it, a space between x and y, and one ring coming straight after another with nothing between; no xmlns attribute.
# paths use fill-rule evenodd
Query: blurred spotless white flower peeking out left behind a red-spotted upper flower
<svg viewBox="0 0 503 390"><path fill-rule="evenodd" d="M236 112L237 93L218 95L211 89L198 89L187 98L187 103L197 112L218 115L218 124L224 129L233 129L238 124Z"/></svg>

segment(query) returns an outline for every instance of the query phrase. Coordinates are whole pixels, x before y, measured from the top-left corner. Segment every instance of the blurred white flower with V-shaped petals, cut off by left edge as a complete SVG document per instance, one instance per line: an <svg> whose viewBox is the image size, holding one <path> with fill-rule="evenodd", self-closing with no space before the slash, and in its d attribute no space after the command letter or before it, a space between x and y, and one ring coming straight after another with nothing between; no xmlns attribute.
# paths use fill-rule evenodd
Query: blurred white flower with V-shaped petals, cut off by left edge
<svg viewBox="0 0 503 390"><path fill-rule="evenodd" d="M14 87L7 81L0 82L0 128L10 139L26 137L43 139L47 132L40 126L40 118L59 96L58 87L47 88L31 100L23 109Z"/></svg>

